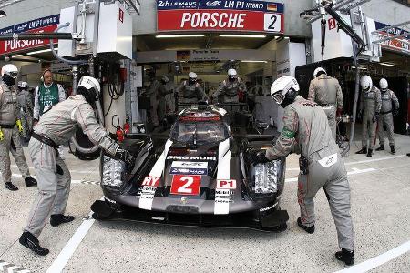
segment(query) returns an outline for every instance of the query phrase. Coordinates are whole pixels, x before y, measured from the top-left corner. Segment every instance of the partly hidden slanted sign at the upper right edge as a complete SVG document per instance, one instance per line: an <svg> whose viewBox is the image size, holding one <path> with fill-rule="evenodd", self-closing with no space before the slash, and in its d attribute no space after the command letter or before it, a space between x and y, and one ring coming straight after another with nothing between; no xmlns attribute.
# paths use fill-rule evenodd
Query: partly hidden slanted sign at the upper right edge
<svg viewBox="0 0 410 273"><path fill-rule="evenodd" d="M386 26L390 26L390 25L385 25L383 23L380 22L375 22L375 26L376 26L376 30L382 29ZM395 35L404 35L404 34L408 34L408 36L404 36L404 37L399 37L396 39L392 39L392 40L388 40L388 41L384 41L382 42L382 47L385 49L390 49L390 50L394 50L394 51L398 51L398 52L403 52L406 54L410 54L410 33L408 31L405 31L401 28L395 27L395 28L391 28L388 29L388 32L385 31L381 31L378 33L379 38L383 39L386 37L393 37Z"/></svg>

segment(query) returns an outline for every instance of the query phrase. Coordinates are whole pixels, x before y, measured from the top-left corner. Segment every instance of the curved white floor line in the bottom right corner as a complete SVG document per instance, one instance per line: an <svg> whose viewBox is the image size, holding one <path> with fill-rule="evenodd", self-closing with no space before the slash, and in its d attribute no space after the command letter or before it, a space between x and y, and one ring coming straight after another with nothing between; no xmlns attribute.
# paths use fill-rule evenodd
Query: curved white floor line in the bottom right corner
<svg viewBox="0 0 410 273"><path fill-rule="evenodd" d="M383 254L376 256L374 258L365 260L360 264L357 264L350 268L345 268L343 270L337 271L335 273L359 273L359 272L367 272L371 269L377 268L386 262L397 258L406 252L410 251L410 241L407 241L403 245L398 246L397 248L393 248Z"/></svg>

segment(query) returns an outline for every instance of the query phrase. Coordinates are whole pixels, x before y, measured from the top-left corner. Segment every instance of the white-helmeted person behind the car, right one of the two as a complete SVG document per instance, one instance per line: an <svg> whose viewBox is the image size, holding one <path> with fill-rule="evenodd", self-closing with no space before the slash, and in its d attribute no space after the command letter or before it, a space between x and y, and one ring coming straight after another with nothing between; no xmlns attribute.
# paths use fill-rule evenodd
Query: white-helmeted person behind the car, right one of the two
<svg viewBox="0 0 410 273"><path fill-rule="evenodd" d="M240 91L246 93L246 86L238 77L235 69L228 69L228 78L223 80L213 94L213 99L220 103L238 103Z"/></svg>

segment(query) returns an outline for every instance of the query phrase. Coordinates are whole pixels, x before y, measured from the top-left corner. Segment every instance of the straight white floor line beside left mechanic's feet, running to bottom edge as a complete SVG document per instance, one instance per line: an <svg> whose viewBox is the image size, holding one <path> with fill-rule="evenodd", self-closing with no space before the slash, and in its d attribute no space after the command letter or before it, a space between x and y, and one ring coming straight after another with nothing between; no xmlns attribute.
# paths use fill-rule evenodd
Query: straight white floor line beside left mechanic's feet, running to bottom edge
<svg viewBox="0 0 410 273"><path fill-rule="evenodd" d="M47 269L46 273L57 273L63 271L63 269L67 265L68 260L73 256L74 252L76 252L79 244L86 237L88 230L96 221L91 217L91 215L92 212L88 214L87 219L83 220L81 225L77 228L76 233L74 233L73 237L69 239L66 246L61 250L60 254L58 254L57 258Z"/></svg>

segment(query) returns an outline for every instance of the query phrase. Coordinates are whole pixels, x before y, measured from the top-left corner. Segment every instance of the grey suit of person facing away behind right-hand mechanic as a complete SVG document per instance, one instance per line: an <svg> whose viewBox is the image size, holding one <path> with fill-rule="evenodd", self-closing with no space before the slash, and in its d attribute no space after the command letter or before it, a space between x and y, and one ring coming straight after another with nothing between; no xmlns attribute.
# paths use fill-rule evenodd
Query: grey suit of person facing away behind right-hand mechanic
<svg viewBox="0 0 410 273"><path fill-rule="evenodd" d="M343 109L343 93L339 81L325 74L314 78L309 86L309 100L323 107L333 138L336 138L336 111Z"/></svg>

